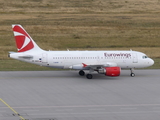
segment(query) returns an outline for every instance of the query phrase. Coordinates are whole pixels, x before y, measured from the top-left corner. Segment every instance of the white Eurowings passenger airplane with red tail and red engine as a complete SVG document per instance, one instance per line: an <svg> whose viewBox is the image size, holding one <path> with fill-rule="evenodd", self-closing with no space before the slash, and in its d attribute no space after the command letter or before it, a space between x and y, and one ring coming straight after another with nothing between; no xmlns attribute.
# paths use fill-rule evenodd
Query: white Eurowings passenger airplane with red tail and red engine
<svg viewBox="0 0 160 120"><path fill-rule="evenodd" d="M120 76L121 69L149 67L154 61L138 51L46 51L41 49L25 29L12 25L18 52L9 52L9 57L40 66L79 70L80 76L92 79L94 71L110 77Z"/></svg>

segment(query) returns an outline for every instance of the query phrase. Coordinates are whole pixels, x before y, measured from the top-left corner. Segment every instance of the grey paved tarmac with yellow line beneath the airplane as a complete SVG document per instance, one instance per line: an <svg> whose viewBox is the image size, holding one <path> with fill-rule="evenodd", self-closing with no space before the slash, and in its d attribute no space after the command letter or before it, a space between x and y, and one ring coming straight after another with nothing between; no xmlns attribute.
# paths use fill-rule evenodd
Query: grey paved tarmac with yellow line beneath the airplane
<svg viewBox="0 0 160 120"><path fill-rule="evenodd" d="M0 120L159 120L160 70L135 74L1 71Z"/></svg>

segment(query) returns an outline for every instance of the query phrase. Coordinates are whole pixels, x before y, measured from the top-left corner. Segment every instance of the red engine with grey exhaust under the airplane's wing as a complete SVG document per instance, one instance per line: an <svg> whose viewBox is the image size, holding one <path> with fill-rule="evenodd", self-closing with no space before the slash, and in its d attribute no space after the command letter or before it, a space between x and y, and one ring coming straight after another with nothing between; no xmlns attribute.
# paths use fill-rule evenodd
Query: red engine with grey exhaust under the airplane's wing
<svg viewBox="0 0 160 120"><path fill-rule="evenodd" d="M98 70L98 73L105 74L106 76L116 77L119 76L121 72L120 67L105 67Z"/></svg>

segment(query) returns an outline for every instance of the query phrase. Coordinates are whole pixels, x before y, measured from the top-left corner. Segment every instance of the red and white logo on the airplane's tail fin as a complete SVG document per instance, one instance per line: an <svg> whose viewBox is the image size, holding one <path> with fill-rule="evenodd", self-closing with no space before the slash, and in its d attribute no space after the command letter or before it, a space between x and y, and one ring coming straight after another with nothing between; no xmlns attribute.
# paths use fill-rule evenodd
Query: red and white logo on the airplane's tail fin
<svg viewBox="0 0 160 120"><path fill-rule="evenodd" d="M34 47L32 38L28 35L28 33L24 29L22 29L18 25L15 25L13 27L13 31L18 52L28 51Z"/></svg>

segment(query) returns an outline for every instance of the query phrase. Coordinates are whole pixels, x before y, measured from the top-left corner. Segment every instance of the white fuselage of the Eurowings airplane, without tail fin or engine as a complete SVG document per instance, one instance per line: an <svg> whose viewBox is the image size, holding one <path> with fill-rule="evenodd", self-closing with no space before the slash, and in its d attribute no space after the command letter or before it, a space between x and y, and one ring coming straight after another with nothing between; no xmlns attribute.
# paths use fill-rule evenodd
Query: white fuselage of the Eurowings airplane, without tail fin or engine
<svg viewBox="0 0 160 120"><path fill-rule="evenodd" d="M144 68L154 64L151 58L137 51L27 51L10 54L21 61L62 69L87 69L86 65Z"/></svg>

